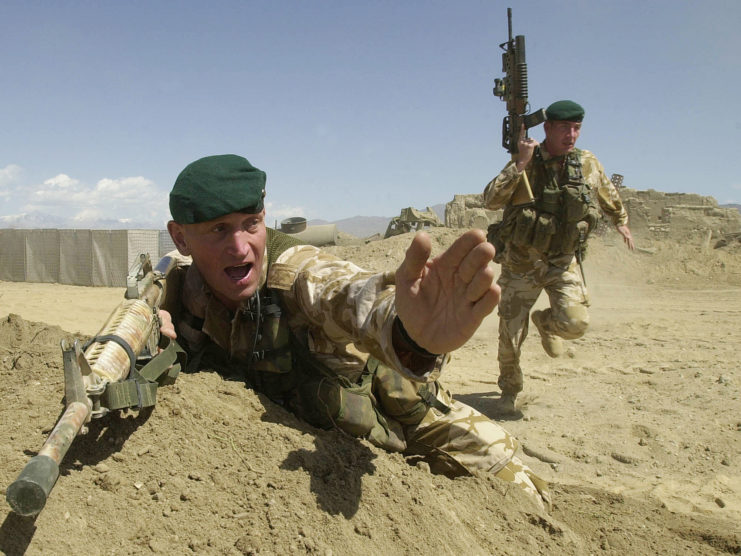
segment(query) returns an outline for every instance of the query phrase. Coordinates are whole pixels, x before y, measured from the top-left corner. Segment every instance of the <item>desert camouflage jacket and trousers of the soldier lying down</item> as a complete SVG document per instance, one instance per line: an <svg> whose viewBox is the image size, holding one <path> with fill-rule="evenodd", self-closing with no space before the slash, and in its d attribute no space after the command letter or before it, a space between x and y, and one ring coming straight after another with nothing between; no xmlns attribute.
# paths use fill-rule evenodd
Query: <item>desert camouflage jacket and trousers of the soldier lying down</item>
<svg viewBox="0 0 741 556"><path fill-rule="evenodd" d="M521 486L541 507L550 506L547 484L514 455L516 440L475 409L453 400L437 382L447 355L422 376L399 361L391 343L396 314L393 272L373 274L304 245L284 251L269 270L266 263L262 276L267 276L268 287L282 292L291 329L308 333L313 357L350 381L372 373L375 411L398 444L369 437L371 442L424 456L441 472L494 473ZM237 362L250 353L254 335L245 324L245 307L232 317L195 266L185 272L181 291L188 312L203 319L201 331L175 321L186 349L216 344Z"/></svg>

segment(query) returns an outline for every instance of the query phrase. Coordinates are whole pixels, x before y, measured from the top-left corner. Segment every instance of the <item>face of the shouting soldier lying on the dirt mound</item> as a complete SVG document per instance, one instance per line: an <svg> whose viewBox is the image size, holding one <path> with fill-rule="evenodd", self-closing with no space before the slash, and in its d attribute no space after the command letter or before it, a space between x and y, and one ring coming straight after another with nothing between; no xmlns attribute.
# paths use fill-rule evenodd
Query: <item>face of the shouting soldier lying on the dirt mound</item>
<svg viewBox="0 0 741 556"><path fill-rule="evenodd" d="M214 295L235 310L260 285L265 255L265 211L233 212L198 224L169 222L167 229L183 255L193 257Z"/></svg>

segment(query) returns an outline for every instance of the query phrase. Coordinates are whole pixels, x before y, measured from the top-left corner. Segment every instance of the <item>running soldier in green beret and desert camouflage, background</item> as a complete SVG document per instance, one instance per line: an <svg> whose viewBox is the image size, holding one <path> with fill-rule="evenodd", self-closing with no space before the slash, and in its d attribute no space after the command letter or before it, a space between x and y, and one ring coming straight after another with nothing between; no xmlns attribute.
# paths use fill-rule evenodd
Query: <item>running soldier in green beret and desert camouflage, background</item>
<svg viewBox="0 0 741 556"><path fill-rule="evenodd" d="M486 208L504 208L502 221L489 229L502 265L497 281L499 303L500 409L516 413L522 391L522 344L530 309L545 289L550 308L533 311L532 321L550 357L564 351L563 340L587 330L589 300L584 277L577 271L599 209L612 220L629 249L634 249L628 214L602 164L590 151L576 148L584 109L561 100L546 109L545 140L538 143L521 130L517 154L484 189ZM518 203L523 174L529 177L533 200Z"/></svg>

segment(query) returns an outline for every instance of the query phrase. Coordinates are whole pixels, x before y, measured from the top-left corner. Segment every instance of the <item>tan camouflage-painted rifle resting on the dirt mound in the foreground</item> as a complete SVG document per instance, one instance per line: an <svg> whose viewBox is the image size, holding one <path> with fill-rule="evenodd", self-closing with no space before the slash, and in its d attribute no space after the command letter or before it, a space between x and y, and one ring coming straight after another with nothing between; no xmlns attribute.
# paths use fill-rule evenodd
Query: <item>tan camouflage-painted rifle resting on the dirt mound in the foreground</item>
<svg viewBox="0 0 741 556"><path fill-rule="evenodd" d="M140 255L129 270L124 300L100 332L85 346L62 340L66 410L7 489L6 499L16 513L31 516L43 509L62 458L75 437L87 432L87 422L112 410L153 406L157 386L177 377L185 354L160 336L158 316L174 266L174 259L164 257L152 268L149 255Z"/></svg>

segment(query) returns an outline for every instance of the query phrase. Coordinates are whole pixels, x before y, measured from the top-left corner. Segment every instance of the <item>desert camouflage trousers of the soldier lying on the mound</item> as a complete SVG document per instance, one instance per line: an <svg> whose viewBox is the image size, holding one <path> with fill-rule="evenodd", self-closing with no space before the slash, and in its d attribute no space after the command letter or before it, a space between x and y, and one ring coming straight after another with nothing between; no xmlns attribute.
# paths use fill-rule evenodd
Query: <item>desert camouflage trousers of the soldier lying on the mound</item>
<svg viewBox="0 0 741 556"><path fill-rule="evenodd" d="M406 455L419 455L446 475L483 471L518 485L541 509L551 506L546 481L515 456L517 440L472 407L454 400L439 383L412 382L378 365L376 403L389 423L401 427Z"/></svg>

